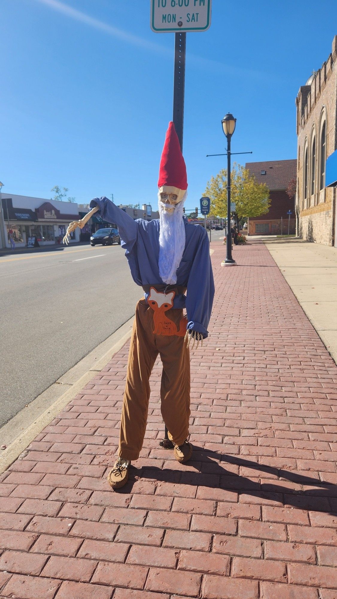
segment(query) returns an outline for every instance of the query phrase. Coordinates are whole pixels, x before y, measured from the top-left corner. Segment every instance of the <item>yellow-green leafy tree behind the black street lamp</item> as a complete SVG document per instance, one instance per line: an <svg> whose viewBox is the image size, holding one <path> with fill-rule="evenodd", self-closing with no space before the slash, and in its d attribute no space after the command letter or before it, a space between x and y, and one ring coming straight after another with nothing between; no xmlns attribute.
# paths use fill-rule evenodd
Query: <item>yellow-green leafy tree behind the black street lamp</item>
<svg viewBox="0 0 337 599"><path fill-rule="evenodd" d="M230 192L230 200L236 204L236 211L232 214L237 223L242 218L268 213L271 204L268 187L265 183L258 183L247 168L236 162L230 173ZM211 177L204 195L211 199L211 216L227 216L227 170L225 168L217 176Z"/></svg>

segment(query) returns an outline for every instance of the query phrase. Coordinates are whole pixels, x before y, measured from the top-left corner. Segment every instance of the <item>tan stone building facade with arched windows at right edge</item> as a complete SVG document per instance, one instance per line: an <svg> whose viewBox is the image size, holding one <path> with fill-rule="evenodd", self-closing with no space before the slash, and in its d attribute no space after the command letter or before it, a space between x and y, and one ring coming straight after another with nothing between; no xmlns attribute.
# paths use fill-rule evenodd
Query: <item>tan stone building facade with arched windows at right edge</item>
<svg viewBox="0 0 337 599"><path fill-rule="evenodd" d="M296 97L296 232L324 245L337 241L336 187L326 187L326 159L337 149L337 35L332 53Z"/></svg>

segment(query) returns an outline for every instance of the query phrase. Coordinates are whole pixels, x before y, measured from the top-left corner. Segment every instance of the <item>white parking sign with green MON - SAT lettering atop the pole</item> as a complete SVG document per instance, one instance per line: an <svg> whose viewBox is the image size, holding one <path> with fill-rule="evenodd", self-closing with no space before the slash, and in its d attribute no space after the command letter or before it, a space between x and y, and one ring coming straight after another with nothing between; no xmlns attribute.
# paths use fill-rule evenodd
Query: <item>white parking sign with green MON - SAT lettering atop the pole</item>
<svg viewBox="0 0 337 599"><path fill-rule="evenodd" d="M155 33L206 31L212 0L151 0L150 25Z"/></svg>

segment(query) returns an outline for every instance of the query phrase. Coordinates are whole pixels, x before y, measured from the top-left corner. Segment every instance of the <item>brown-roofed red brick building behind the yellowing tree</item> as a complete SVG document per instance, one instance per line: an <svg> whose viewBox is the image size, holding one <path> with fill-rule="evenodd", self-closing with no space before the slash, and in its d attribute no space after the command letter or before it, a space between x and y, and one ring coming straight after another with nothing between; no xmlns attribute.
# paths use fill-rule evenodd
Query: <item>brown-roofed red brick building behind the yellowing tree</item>
<svg viewBox="0 0 337 599"><path fill-rule="evenodd" d="M295 197L289 198L286 189L290 181L296 177L296 159L246 162L245 168L248 168L258 183L266 183L271 199L271 206L267 214L248 219L248 235L287 233L289 210L292 210L289 232L295 233Z"/></svg>

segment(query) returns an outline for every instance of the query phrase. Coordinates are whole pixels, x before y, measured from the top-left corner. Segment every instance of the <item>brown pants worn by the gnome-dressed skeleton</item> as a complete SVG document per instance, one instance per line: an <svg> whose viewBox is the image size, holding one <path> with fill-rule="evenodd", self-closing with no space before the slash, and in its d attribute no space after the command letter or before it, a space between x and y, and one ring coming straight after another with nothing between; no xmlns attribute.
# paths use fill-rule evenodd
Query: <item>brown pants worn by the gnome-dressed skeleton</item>
<svg viewBox="0 0 337 599"><path fill-rule="evenodd" d="M171 308L170 320L179 323L183 310ZM181 445L189 435L190 352L184 337L154 335L153 310L145 299L136 305L127 363L126 385L120 423L119 456L134 460L139 456L147 424L151 370L157 355L163 363L160 388L161 412L169 437Z"/></svg>

